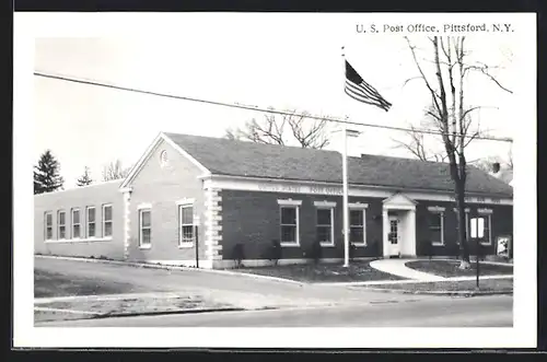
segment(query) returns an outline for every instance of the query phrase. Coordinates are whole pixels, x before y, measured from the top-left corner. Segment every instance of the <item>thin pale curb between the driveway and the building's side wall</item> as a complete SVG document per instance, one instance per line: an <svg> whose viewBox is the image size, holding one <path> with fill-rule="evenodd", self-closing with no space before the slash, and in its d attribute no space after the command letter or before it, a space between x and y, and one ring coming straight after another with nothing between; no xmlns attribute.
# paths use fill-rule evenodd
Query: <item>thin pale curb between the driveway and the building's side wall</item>
<svg viewBox="0 0 547 362"><path fill-rule="evenodd" d="M218 275L225 275L225 276L237 276L237 277L246 277L246 278L254 278L254 279L272 280L272 281L279 281L279 282L284 282L284 283L290 283L290 284L299 284L299 285L305 284L303 282L290 280L290 279L276 278L276 277L269 277L269 276L260 276L260 275L254 275L254 273L247 273L247 272L241 272L241 271L231 271L231 270L202 269L202 268L173 266L173 265L133 262L133 261L121 261L121 260L110 260L110 259L65 257L65 256L55 256L55 255L36 255L35 254L34 256L37 258L44 258L44 259L60 259L60 260L84 261L84 262L101 262L101 264L120 265L120 266L135 267L135 268L181 270L181 271L200 271L200 272L210 272L210 273L218 273Z"/></svg>

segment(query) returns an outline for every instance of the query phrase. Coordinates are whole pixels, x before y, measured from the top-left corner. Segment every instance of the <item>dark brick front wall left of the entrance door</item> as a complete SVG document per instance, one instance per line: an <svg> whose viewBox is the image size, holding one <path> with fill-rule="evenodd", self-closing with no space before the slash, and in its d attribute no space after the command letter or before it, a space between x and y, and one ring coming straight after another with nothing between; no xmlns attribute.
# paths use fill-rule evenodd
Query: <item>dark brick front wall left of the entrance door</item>
<svg viewBox="0 0 547 362"><path fill-rule="evenodd" d="M278 199L302 200L300 207L300 245L283 247L282 258L304 258L316 240L316 207L314 201L335 201L335 246L323 247L324 258L344 257L342 198L340 196L310 196L226 190L220 191L222 203L222 258L233 259L237 243L245 245L246 259L264 259L272 240L280 240L280 207ZM366 247L358 247L356 257L382 255L382 199L349 198L349 202L369 203L365 211ZM374 248L374 243L377 247Z"/></svg>

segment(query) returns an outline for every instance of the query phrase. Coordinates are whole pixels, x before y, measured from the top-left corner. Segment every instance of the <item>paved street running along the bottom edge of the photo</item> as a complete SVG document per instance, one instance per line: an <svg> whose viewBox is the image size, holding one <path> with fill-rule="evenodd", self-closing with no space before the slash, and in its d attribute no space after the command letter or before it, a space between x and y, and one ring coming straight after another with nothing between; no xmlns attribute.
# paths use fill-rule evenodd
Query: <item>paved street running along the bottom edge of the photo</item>
<svg viewBox="0 0 547 362"><path fill-rule="evenodd" d="M63 327L512 327L511 296L434 297L336 307L118 317Z"/></svg>

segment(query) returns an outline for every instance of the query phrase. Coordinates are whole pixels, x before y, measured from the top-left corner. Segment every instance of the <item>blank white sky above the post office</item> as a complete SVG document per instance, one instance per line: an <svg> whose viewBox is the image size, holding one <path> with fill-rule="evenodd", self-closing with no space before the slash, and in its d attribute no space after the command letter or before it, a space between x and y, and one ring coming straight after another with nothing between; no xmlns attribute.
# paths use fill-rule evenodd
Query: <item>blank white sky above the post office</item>
<svg viewBox="0 0 547 362"><path fill-rule="evenodd" d="M237 17L237 16L236 16ZM406 40L398 35L369 36L325 26L324 21L288 16L282 27L260 17L242 16L240 26L188 22L163 36L94 36L36 38L34 70L182 96L241 103L276 109L294 108L314 115L347 116L351 121L419 127L429 102L416 77ZM212 24L212 25L211 25ZM410 36L421 50L423 36ZM497 75L515 86L510 61L515 38L468 37L473 59L501 65ZM353 68L393 104L388 113L361 104L344 93L341 46ZM419 52L423 58L429 54ZM481 105L475 117L490 136L511 137L516 107L511 94L485 78L466 86L469 105ZM61 164L65 187L91 168L101 178L103 165L119 159L133 164L160 131L222 137L226 128L264 118L257 112L168 100L34 77L34 154L50 149ZM393 139L393 130L353 127L349 154L410 156ZM434 137L432 138L433 147ZM341 150L341 132L331 133L333 150ZM505 156L509 143L474 141L468 159Z"/></svg>

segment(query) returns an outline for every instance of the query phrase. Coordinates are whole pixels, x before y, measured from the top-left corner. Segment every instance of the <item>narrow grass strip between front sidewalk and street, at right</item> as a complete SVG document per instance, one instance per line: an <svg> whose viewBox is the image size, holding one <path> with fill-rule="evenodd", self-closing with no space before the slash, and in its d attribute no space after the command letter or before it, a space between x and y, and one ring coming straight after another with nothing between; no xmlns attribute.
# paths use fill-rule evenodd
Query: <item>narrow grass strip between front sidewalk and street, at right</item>
<svg viewBox="0 0 547 362"><path fill-rule="evenodd" d="M477 282L475 280L465 281L435 281L417 282L401 284L376 284L374 289L400 290L408 292L463 292L476 291ZM513 279L486 279L479 281L479 291L481 292L513 292Z"/></svg>

